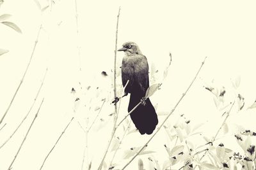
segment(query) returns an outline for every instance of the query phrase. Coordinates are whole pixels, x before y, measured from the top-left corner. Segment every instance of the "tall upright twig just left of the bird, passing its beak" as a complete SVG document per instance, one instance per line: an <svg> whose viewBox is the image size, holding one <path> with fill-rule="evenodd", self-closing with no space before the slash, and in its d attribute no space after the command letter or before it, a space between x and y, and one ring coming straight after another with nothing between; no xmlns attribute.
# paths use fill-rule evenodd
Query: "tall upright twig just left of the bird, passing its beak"
<svg viewBox="0 0 256 170"><path fill-rule="evenodd" d="M114 96L116 98L116 51L117 51L117 37L118 37L118 22L119 22L119 15L120 15L120 7L119 7L119 10L118 10L118 15L117 15L117 21L116 21L116 43L115 43L115 62L114 62ZM106 148L106 151L103 155L103 158L100 162L100 166L98 167L98 170L101 170L102 169L102 166L103 166L103 162L104 162L104 159L108 153L108 149L109 149L109 146L111 145L111 142L112 142L112 139L114 138L115 136L115 131L116 131L116 121L117 121L117 116L118 113L117 113L117 106L115 104L115 115L114 115L114 125L113 125L113 131L112 131L112 134L111 134L111 138L109 140L109 143L108 143L108 147Z"/></svg>

